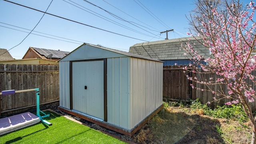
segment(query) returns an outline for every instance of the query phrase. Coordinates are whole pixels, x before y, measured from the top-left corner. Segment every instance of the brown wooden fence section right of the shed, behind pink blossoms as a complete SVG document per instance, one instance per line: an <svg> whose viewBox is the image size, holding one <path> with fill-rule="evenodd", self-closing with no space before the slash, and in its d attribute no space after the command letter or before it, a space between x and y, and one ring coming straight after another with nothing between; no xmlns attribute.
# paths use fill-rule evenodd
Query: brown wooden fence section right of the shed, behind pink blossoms
<svg viewBox="0 0 256 144"><path fill-rule="evenodd" d="M200 81L200 78L207 79L213 78L212 81L217 80L217 78L220 78L216 74L198 74L198 73L192 73L188 72L182 69L184 66L164 66L164 74L163 74L163 98L165 99L171 99L171 100L195 100L196 98L199 98L203 104L206 102L213 101L213 97L216 97L217 99L220 98L213 94L210 91L201 91L196 90L194 88L191 88L190 84L192 84L192 81L188 80L186 75L196 76L198 80ZM188 68L189 69L189 68ZM201 71L201 68L198 69ZM254 76L256 76L256 72L253 72ZM256 86L252 83L251 80L247 80L247 83L249 85L252 85L252 88L256 90ZM198 84L196 82L193 82L193 85L200 89L208 89L204 84ZM228 94L228 89L225 84L222 85L213 85L210 86L212 90L215 92L222 91L225 94ZM229 102L230 99L223 98L218 102L212 102L211 107L216 108L216 105L224 105L225 102ZM256 101L250 102L251 107L253 110L256 110Z"/></svg>

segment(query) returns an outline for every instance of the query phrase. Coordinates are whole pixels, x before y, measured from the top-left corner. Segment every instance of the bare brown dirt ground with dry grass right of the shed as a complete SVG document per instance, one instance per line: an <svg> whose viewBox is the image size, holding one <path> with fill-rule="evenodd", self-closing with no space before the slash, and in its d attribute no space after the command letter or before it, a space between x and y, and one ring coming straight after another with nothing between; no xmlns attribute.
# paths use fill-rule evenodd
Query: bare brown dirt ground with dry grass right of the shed
<svg viewBox="0 0 256 144"><path fill-rule="evenodd" d="M217 119L200 110L165 108L133 141L138 144L250 144L252 125Z"/></svg>

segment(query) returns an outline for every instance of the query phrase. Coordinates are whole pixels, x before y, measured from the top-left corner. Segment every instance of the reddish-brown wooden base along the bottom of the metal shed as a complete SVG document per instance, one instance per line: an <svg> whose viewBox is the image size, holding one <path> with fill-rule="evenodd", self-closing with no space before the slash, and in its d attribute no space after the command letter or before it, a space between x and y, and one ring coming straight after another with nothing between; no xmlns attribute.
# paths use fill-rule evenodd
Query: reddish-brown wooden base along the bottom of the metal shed
<svg viewBox="0 0 256 144"><path fill-rule="evenodd" d="M142 122L140 122L135 128L133 128L131 131L128 131L128 130L124 130L122 128L118 128L117 126L114 126L114 125L111 125L111 124L108 124L107 122L100 122L98 120L95 120L95 119L92 119L90 117L87 117L87 116L84 116L82 114L78 114L76 112L73 112L72 110L69 110L69 109L66 109L62 106L59 106L58 109L63 111L63 112L66 112L68 114L71 114L73 116L77 116L79 118L82 118L84 120L87 120L89 122L93 122L94 124L98 124L100 126L103 126L105 128L108 128L110 130L113 130L115 132L119 132L121 134L125 134L126 136L133 136L140 128L142 128L142 126L144 124L146 124L148 122L148 120L150 120L151 118L153 118L160 110L162 110L162 108L164 108L163 105L159 106L154 112L152 112L149 116L147 116Z"/></svg>

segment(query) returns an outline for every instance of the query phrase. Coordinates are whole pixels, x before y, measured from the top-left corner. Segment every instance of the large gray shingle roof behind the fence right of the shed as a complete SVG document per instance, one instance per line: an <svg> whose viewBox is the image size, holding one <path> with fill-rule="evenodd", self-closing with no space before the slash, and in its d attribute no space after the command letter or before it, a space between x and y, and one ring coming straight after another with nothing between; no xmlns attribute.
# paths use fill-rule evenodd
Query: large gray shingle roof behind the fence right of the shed
<svg viewBox="0 0 256 144"><path fill-rule="evenodd" d="M210 51L208 48L203 46L195 38L191 38L191 40L188 41L189 38L191 37L134 44L130 47L129 52L154 58L156 60L188 59L184 55L186 52L180 46L180 42L183 44L183 46L186 46L186 42L189 42L193 46L194 50L197 50L200 55L204 56L205 58L210 56Z"/></svg>

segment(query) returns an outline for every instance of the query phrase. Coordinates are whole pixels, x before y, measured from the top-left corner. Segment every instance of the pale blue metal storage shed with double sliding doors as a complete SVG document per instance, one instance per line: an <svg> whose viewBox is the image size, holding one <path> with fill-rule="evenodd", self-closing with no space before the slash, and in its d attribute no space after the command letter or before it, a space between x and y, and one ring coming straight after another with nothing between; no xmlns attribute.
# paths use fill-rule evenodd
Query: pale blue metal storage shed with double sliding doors
<svg viewBox="0 0 256 144"><path fill-rule="evenodd" d="M162 61L82 44L59 62L64 112L132 136L163 108Z"/></svg>

